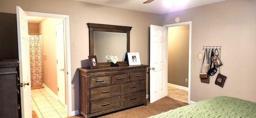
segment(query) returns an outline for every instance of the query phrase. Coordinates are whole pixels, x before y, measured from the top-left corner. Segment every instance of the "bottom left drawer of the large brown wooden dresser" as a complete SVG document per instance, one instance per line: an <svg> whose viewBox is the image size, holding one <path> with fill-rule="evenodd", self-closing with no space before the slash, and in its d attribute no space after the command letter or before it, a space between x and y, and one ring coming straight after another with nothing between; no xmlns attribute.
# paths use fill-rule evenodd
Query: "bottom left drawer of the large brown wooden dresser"
<svg viewBox="0 0 256 118"><path fill-rule="evenodd" d="M90 102L90 113L116 108L120 106L120 96Z"/></svg>

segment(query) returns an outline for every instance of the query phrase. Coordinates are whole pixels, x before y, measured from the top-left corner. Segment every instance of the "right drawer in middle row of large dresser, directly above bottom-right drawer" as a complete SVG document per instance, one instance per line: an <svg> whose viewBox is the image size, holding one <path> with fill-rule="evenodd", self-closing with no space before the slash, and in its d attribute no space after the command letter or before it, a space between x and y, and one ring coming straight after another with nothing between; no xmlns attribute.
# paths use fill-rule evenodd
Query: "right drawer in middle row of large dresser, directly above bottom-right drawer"
<svg viewBox="0 0 256 118"><path fill-rule="evenodd" d="M121 93L136 92L138 90L145 90L145 81L137 81L133 83L121 84Z"/></svg>

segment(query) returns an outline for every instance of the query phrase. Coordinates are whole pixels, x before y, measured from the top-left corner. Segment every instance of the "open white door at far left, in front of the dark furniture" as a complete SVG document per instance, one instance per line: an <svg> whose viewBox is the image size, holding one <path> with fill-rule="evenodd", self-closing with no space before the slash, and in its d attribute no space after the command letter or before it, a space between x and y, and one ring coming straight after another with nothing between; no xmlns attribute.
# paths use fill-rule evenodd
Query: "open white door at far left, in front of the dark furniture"
<svg viewBox="0 0 256 118"><path fill-rule="evenodd" d="M22 118L32 118L31 106L31 86L30 86L30 62L29 62L29 43L28 43L28 19L27 14L16 6L17 31L18 31L18 53L20 69L21 114Z"/></svg>

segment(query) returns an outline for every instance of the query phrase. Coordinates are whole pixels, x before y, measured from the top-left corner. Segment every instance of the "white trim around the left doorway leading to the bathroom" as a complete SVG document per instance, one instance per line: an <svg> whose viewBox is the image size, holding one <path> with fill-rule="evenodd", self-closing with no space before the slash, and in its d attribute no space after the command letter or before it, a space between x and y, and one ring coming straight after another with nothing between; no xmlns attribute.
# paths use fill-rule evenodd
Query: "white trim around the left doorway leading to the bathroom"
<svg viewBox="0 0 256 118"><path fill-rule="evenodd" d="M69 16L61 14L48 14L41 12L30 12L24 11L28 16L38 16L47 18L63 18L65 20L65 31L66 31L66 70L67 70L67 107L68 116L74 116L72 114L72 88L71 88L71 61L70 61L70 29L69 29Z"/></svg>

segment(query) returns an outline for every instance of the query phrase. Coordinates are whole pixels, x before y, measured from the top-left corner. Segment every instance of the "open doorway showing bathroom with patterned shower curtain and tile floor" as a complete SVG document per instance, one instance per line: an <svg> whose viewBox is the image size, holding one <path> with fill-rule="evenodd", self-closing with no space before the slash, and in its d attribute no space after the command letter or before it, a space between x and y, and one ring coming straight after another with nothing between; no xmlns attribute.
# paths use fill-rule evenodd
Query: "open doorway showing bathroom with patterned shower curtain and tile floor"
<svg viewBox="0 0 256 118"><path fill-rule="evenodd" d="M68 116L63 21L63 18L28 16L31 101L32 110L39 117Z"/></svg>

